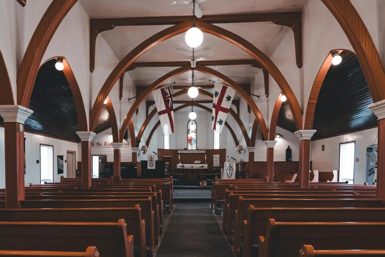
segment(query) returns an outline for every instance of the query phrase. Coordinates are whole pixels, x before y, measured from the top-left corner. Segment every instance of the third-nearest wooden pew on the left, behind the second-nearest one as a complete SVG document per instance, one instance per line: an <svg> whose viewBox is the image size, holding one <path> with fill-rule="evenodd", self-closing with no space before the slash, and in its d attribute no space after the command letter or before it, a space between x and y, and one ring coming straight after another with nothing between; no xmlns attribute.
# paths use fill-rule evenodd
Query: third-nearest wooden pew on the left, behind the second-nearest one
<svg viewBox="0 0 385 257"><path fill-rule="evenodd" d="M82 208L82 209L4 209L0 210L3 222L116 222L124 219L127 234L134 236L139 256L146 257L146 223L142 220L139 204L134 208ZM152 249L150 249L152 253Z"/></svg>

